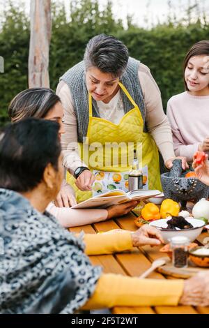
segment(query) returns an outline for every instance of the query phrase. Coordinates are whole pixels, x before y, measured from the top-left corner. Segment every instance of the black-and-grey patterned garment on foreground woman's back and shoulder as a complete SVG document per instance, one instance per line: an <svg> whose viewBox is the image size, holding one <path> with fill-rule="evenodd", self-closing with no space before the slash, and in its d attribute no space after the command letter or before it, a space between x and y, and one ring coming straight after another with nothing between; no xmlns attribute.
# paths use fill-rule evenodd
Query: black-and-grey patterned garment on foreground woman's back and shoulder
<svg viewBox="0 0 209 328"><path fill-rule="evenodd" d="M0 188L0 313L74 313L91 297L102 269L56 218L20 193Z"/></svg>

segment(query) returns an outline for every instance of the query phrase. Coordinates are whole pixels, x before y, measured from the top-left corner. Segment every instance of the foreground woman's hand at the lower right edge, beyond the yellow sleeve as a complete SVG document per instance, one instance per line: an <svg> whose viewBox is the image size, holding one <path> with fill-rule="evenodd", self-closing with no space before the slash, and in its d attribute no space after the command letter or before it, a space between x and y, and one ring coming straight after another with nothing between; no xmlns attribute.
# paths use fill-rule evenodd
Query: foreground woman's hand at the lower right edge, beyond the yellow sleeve
<svg viewBox="0 0 209 328"><path fill-rule="evenodd" d="M185 281L179 304L209 306L209 274L199 273Z"/></svg>

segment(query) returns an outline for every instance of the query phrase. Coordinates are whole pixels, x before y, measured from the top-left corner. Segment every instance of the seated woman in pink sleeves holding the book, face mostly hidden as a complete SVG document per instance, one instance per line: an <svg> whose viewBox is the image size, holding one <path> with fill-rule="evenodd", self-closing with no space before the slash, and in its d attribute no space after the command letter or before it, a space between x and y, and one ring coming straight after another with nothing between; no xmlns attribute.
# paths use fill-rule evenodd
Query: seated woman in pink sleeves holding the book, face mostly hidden
<svg viewBox="0 0 209 328"><path fill-rule="evenodd" d="M26 117L57 121L60 124L59 137L65 133L62 123L63 105L59 96L51 89L33 88L20 92L11 101L8 115L13 122ZM74 191L66 181L63 181L61 192L54 202L49 203L47 211L54 215L64 228L70 228L127 214L137 206L137 203L132 200L124 204L112 205L107 209L71 209L70 206L76 204Z"/></svg>

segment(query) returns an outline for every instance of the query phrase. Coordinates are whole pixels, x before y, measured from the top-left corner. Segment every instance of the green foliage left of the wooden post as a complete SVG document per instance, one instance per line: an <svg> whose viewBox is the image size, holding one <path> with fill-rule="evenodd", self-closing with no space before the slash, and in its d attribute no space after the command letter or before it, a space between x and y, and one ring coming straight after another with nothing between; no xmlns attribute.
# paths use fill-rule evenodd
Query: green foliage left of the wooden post
<svg viewBox="0 0 209 328"><path fill-rule="evenodd" d="M0 125L8 121L10 100L27 88L29 57L29 19L15 6L1 17L0 56L4 59L4 73L0 73Z"/></svg>

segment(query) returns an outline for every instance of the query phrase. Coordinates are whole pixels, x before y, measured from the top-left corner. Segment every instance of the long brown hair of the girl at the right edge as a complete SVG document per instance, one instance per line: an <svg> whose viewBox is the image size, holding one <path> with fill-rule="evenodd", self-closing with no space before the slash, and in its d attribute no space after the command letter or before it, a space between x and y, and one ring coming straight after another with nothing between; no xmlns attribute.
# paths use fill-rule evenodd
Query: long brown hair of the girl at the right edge
<svg viewBox="0 0 209 328"><path fill-rule="evenodd" d="M185 83L185 89L189 91L187 88L187 83L185 81L185 69L187 68L188 61L191 57L194 56L200 56L201 54L206 54L206 56L209 56L209 40L202 40L194 45L189 49L187 52L185 59L183 61L183 74L184 74L184 83Z"/></svg>

